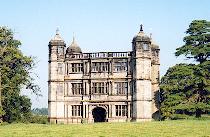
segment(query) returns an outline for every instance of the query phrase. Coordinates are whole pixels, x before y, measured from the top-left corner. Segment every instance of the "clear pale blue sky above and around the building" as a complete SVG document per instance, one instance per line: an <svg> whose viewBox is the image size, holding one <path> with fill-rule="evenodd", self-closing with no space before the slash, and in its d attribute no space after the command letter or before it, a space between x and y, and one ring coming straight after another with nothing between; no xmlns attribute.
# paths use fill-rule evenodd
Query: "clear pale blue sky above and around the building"
<svg viewBox="0 0 210 137"><path fill-rule="evenodd" d="M24 54L36 57L34 76L43 96L27 95L32 107L47 107L48 42L57 27L67 46L74 33L84 52L128 51L143 23L160 45L164 75L186 61L174 56L175 49L192 20L210 20L209 5L209 0L2 0L0 25L15 32Z"/></svg>

